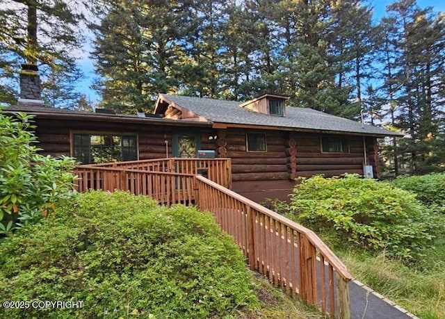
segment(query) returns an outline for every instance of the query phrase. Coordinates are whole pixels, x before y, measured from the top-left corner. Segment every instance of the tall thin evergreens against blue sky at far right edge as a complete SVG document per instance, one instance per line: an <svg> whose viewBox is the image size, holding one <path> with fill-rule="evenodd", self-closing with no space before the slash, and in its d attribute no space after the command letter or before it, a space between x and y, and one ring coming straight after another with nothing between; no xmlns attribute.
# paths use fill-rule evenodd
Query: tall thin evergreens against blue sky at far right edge
<svg viewBox="0 0 445 319"><path fill-rule="evenodd" d="M396 59L388 59L391 65L386 67L394 70L387 79L389 105L395 124L408 136L401 140L398 151L407 155L410 174L428 172L443 162L436 161L435 145L443 110L440 92L445 88L444 18L430 8L421 10L414 0L391 4L388 15L384 22L393 26L388 30L393 33L389 36L397 53Z"/></svg>

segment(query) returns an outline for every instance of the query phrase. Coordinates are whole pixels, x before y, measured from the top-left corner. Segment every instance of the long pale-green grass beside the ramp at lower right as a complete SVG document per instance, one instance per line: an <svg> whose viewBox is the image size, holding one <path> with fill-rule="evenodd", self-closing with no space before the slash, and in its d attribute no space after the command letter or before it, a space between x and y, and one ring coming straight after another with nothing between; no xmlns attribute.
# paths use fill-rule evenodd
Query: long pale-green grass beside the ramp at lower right
<svg viewBox="0 0 445 319"><path fill-rule="evenodd" d="M385 252L371 254L353 250L335 243L328 234L321 237L355 279L419 318L445 318L445 236L437 238L435 250L410 265L387 258Z"/></svg>

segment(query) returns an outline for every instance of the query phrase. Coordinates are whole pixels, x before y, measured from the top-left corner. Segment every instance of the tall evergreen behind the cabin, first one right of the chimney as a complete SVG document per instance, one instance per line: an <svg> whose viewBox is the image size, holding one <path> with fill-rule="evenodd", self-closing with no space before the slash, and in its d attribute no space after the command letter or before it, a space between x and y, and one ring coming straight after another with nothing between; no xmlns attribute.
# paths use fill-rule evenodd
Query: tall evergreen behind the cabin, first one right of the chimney
<svg viewBox="0 0 445 319"><path fill-rule="evenodd" d="M179 40L184 4L177 1L110 1L92 58L101 77L102 106L121 113L149 111L159 92L175 92L184 54Z"/></svg>

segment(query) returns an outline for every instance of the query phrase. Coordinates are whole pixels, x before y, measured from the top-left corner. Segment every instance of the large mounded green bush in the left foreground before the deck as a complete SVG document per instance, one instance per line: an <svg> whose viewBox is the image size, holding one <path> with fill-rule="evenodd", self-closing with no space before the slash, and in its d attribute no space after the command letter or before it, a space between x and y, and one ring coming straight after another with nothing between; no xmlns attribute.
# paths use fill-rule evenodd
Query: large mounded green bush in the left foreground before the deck
<svg viewBox="0 0 445 319"><path fill-rule="evenodd" d="M74 195L0 245L1 300L84 302L8 318L223 317L255 304L251 276L209 213L122 192Z"/></svg>

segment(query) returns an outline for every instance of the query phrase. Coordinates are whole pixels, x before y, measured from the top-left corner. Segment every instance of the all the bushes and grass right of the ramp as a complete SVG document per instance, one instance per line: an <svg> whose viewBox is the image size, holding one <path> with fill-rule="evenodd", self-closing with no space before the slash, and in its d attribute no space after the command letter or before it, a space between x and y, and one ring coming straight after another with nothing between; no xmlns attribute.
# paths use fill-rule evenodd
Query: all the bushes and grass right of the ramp
<svg viewBox="0 0 445 319"><path fill-rule="evenodd" d="M420 318L440 319L445 318L444 177L402 177L393 183L313 177L296 187L290 205L271 204L314 229L359 281Z"/></svg>

